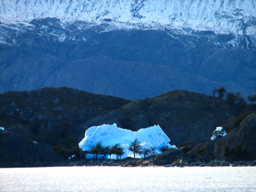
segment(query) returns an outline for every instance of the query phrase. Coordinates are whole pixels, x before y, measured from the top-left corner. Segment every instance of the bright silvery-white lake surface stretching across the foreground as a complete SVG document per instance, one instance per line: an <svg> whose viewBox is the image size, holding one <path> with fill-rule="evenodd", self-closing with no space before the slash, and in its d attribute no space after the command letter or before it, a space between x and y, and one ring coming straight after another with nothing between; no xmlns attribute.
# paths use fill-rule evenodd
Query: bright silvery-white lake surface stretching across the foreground
<svg viewBox="0 0 256 192"><path fill-rule="evenodd" d="M0 191L256 191L256 167L1 168Z"/></svg>

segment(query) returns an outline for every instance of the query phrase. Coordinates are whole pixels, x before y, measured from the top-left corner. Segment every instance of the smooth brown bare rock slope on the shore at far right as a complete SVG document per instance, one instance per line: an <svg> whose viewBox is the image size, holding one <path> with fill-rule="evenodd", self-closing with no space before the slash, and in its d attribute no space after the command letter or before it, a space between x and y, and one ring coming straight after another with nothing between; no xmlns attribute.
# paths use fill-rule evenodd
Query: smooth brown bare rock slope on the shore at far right
<svg viewBox="0 0 256 192"><path fill-rule="evenodd" d="M225 148L236 149L235 155L224 156ZM237 146L241 149L237 152ZM200 158L204 161L212 160L237 160L241 158L256 159L256 114L248 116L244 121L225 137L216 138L206 143L196 145L189 154L195 157L194 161ZM203 149L203 150L202 150ZM199 153L201 150L201 153ZM247 154L242 155L243 150ZM237 154L238 153L238 154Z"/></svg>

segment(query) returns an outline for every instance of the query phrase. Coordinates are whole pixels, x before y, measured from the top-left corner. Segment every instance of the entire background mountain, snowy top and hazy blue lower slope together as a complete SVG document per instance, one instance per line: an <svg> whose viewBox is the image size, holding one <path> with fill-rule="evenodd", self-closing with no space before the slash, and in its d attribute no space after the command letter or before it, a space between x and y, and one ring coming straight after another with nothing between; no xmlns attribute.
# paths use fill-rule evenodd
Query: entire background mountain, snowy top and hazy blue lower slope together
<svg viewBox="0 0 256 192"><path fill-rule="evenodd" d="M255 1L1 1L0 92L256 89Z"/></svg>

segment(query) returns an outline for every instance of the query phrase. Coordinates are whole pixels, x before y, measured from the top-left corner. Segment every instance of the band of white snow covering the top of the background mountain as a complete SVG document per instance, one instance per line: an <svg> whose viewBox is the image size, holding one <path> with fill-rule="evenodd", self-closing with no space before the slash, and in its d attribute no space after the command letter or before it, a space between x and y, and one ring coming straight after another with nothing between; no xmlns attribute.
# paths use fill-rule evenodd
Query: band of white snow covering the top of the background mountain
<svg viewBox="0 0 256 192"><path fill-rule="evenodd" d="M59 18L113 25L169 26L212 30L218 33L243 35L244 24L256 31L255 0L2 0L0 20L29 22L40 18ZM251 32L252 31L252 32ZM255 34L255 33L254 33Z"/></svg>

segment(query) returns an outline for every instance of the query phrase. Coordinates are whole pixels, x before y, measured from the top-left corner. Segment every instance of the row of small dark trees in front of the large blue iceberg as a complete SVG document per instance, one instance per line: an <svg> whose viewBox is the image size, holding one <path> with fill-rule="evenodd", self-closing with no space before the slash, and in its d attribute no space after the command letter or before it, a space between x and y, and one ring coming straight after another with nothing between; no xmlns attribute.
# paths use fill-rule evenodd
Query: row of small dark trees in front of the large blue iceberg
<svg viewBox="0 0 256 192"><path fill-rule="evenodd" d="M170 148L166 145L160 147L159 149L160 151L164 152L169 150ZM137 138L129 144L128 150L133 153L133 158L135 158L135 154L143 155L144 158L147 155L156 154L156 148L143 148ZM107 155L110 155L110 157L111 155L116 155L116 159L121 159L122 155L124 155L124 148L121 147L120 143L113 146L104 146L102 144L102 141L98 141L97 143L92 145L91 150L87 151L87 153L93 154L93 158L95 159L98 159L99 155L101 155L101 158L105 158Z"/></svg>

